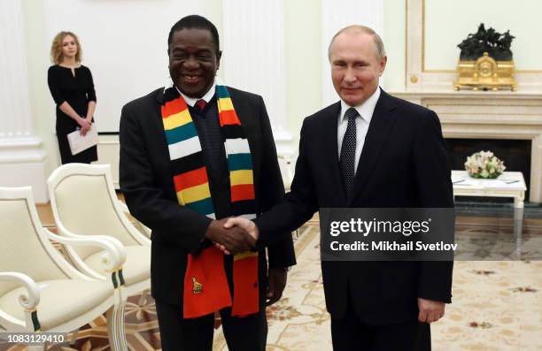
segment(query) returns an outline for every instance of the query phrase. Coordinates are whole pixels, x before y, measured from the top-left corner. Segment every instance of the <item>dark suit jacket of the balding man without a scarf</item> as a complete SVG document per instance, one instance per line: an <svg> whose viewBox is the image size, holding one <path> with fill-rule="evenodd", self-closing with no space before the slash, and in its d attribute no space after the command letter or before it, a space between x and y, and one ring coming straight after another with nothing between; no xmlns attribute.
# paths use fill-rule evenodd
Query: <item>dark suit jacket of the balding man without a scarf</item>
<svg viewBox="0 0 542 351"><path fill-rule="evenodd" d="M291 191L256 218L259 243L302 225L320 208L453 207L450 166L435 112L381 92L347 202L337 151L340 103L305 119ZM326 304L344 316L348 293L369 324L417 318L417 297L451 301L452 262L322 262Z"/></svg>

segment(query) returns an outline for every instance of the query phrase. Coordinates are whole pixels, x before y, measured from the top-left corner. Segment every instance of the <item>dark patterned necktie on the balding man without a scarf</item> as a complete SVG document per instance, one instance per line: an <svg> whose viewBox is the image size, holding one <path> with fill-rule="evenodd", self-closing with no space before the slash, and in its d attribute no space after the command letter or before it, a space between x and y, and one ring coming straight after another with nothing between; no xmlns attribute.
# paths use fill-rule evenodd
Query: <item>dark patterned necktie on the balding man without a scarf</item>
<svg viewBox="0 0 542 351"><path fill-rule="evenodd" d="M341 175L345 184L346 198L350 202L352 199L354 185L354 167L356 164L356 116L359 113L351 107L346 110L345 117L348 118L348 126L346 127L343 145L341 146Z"/></svg>

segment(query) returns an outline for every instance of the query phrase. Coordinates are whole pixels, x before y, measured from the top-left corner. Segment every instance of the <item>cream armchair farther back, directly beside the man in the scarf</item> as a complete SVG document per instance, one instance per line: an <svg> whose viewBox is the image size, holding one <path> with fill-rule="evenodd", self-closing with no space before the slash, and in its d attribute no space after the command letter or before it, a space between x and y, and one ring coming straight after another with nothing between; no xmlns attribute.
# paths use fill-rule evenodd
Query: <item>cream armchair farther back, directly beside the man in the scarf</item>
<svg viewBox="0 0 542 351"><path fill-rule="evenodd" d="M58 234L71 238L107 235L119 240L127 257L120 272L125 298L146 293L151 287L151 240L123 213L109 164L63 164L52 172L47 183ZM105 278L99 249L65 248L80 271L93 278Z"/></svg>

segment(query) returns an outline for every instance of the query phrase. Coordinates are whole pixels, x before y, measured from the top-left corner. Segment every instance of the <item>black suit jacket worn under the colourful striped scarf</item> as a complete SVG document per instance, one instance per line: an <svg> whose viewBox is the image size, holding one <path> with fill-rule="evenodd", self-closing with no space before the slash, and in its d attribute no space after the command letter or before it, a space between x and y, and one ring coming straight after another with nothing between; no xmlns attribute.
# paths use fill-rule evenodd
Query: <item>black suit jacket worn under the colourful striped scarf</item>
<svg viewBox="0 0 542 351"><path fill-rule="evenodd" d="M261 213L280 202L284 194L266 107L259 95L234 88L228 88L228 92L251 148L257 213ZM187 255L201 248L211 219L177 202L160 114L163 100L163 88L159 88L122 108L120 189L131 214L152 230L152 296L182 304ZM291 235L282 234L283 239L268 250L271 268L296 263ZM260 282L263 283L259 286L260 293L264 293L267 261L264 250L259 254ZM226 261L227 267L231 265L231 257Z"/></svg>

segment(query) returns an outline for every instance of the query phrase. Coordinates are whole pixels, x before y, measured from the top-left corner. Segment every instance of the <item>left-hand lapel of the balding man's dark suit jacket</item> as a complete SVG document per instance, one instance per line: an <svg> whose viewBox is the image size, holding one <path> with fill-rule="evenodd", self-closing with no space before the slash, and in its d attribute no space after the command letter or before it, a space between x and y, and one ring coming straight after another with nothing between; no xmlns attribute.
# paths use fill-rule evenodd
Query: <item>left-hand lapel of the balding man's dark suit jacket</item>
<svg viewBox="0 0 542 351"><path fill-rule="evenodd" d="M338 203L344 204L346 203L346 195L345 186L343 185L343 178L341 176L341 169L339 165L337 141L337 123L339 113L341 112L341 103L337 102L329 106L329 108L330 111L325 117L326 119L324 121L324 126L322 129L323 137L321 145L323 146L323 148L321 148L321 156L322 160L329 160L330 162L330 184L337 184L337 201Z"/></svg>

